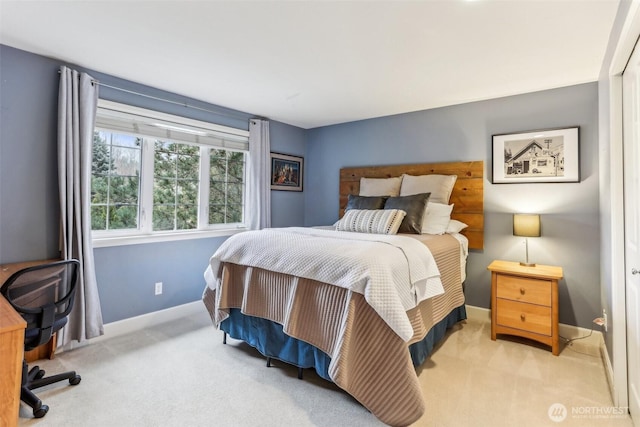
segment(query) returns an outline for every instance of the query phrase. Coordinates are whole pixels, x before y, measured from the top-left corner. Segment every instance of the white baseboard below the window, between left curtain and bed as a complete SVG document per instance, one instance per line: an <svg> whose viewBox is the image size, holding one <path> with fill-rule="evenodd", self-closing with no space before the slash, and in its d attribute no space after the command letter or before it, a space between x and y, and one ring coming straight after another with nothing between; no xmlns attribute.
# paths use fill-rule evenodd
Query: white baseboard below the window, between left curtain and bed
<svg viewBox="0 0 640 427"><path fill-rule="evenodd" d="M149 326L157 325L159 323L171 322L182 317L197 314L198 312L204 312L205 310L206 309L202 304L202 301L198 300L175 307L169 307L164 310L153 311L151 313L141 314L140 316L118 320L116 322L105 323L104 335L92 338L87 341L83 341L82 343L74 341L70 343L69 347L58 347L56 349L56 353L62 352L64 350L84 347L85 345L94 344L109 338L126 335L131 332L145 329Z"/></svg>

